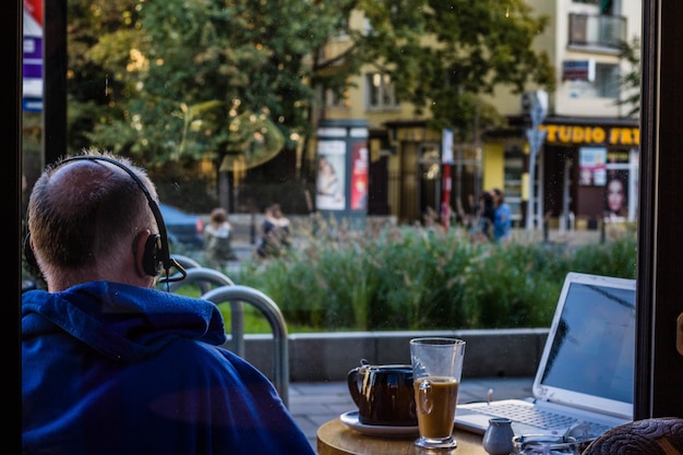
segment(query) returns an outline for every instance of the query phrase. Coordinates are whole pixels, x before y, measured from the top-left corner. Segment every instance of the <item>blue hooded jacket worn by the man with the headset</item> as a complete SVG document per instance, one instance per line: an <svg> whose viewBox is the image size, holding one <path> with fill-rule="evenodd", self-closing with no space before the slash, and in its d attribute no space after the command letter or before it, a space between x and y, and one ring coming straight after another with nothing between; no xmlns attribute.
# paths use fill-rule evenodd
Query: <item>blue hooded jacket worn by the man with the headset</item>
<svg viewBox="0 0 683 455"><path fill-rule="evenodd" d="M215 304L108 282L22 297L24 454L311 454Z"/></svg>

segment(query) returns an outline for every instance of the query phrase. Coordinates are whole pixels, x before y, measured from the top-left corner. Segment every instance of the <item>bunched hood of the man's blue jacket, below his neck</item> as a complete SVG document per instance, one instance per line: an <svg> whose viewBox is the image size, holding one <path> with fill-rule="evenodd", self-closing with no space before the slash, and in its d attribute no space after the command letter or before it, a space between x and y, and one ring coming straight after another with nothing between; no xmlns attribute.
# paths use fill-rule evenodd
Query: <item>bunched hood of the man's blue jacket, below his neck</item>
<svg viewBox="0 0 683 455"><path fill-rule="evenodd" d="M55 326L122 362L147 358L179 338L212 345L227 339L223 316L209 301L109 282L24 292L22 338Z"/></svg>

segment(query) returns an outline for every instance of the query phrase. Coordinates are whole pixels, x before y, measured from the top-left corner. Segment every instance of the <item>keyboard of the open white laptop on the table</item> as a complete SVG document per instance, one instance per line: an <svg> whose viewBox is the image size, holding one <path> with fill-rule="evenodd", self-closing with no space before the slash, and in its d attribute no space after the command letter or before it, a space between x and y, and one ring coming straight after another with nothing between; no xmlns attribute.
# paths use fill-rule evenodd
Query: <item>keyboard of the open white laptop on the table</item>
<svg viewBox="0 0 683 455"><path fill-rule="evenodd" d="M472 408L471 410L492 417L504 417L511 419L512 421L526 423L543 430L564 430L577 421L573 417L532 408L530 406L517 405L514 403L492 404L487 407ZM585 423L590 426L590 433L594 435L602 434L609 430L609 427L600 423Z"/></svg>

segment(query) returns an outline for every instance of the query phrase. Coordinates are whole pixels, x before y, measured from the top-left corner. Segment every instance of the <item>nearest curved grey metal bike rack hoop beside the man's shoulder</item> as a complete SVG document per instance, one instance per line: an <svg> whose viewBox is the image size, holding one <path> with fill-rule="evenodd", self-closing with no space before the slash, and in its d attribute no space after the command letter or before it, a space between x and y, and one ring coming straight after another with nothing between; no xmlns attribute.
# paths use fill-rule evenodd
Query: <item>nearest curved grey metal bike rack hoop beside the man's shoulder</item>
<svg viewBox="0 0 683 455"><path fill-rule="evenodd" d="M229 301L231 304L233 302L247 302L261 310L273 330L273 382L283 398L283 403L285 406L289 407L289 347L287 345L287 324L277 303L262 291L240 285L221 286L212 289L204 294L202 299L209 300L216 304L226 301ZM239 338L242 342L241 349L243 350L243 327ZM235 334L232 340L235 340Z"/></svg>

